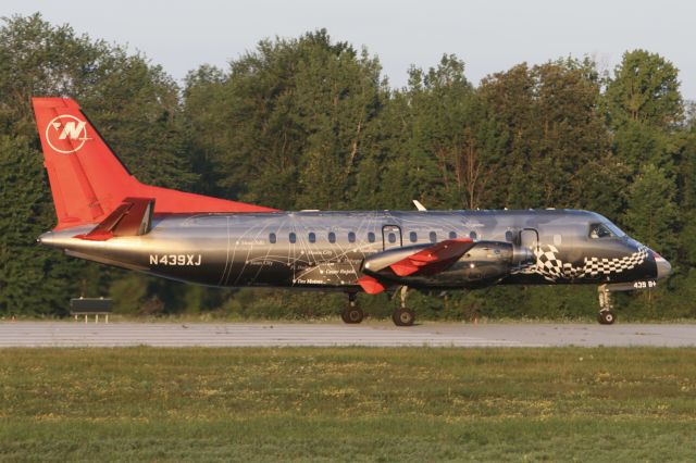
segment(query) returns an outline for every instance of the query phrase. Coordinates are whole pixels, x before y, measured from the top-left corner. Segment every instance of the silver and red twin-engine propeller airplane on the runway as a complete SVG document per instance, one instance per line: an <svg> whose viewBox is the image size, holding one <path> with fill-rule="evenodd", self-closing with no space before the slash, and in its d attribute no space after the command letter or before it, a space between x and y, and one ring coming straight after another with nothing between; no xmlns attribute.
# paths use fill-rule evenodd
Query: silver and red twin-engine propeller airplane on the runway
<svg viewBox="0 0 696 463"><path fill-rule="evenodd" d="M214 287L400 291L393 313L411 326L408 289L493 285L654 288L671 272L657 252L606 217L580 210L279 211L139 183L70 98L33 98L58 224L41 245L67 255Z"/></svg>

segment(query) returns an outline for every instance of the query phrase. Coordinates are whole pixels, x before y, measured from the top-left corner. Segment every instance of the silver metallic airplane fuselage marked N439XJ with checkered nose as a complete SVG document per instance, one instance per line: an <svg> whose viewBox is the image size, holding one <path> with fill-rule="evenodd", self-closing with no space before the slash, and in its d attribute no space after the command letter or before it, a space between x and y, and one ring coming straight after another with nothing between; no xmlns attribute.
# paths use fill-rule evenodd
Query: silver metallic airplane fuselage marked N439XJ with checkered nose
<svg viewBox="0 0 696 463"><path fill-rule="evenodd" d="M669 273L667 261L625 235L593 238L589 227L598 223L610 224L599 214L574 210L156 214L152 229L142 236L75 238L92 228L86 226L49 232L39 241L77 258L226 287L356 291L365 258L451 238L507 243L530 259L515 258L504 275L486 276L472 272L485 256L462 256L449 273L406 281L409 286L602 284Z"/></svg>

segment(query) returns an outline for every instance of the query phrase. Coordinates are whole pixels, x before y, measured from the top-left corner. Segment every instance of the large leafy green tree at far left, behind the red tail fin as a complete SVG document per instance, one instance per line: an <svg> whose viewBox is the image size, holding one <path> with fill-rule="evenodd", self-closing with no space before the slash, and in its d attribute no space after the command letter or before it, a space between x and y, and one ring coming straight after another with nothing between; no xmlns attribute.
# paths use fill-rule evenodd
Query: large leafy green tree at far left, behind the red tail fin
<svg viewBox="0 0 696 463"><path fill-rule="evenodd" d="M181 152L178 90L142 55L77 36L67 25L52 26L38 13L3 22L0 312L64 314L70 297L104 293L114 273L35 245L55 220L32 97L77 99L137 177L185 187L196 176Z"/></svg>

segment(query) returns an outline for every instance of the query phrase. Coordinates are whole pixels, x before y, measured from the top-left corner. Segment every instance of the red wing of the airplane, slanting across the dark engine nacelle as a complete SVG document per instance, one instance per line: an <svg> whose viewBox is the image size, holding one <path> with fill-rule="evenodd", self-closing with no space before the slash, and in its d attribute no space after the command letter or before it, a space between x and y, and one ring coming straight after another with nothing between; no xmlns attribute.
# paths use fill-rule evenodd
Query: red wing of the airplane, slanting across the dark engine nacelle
<svg viewBox="0 0 696 463"><path fill-rule="evenodd" d="M389 265L398 276L434 274L447 268L474 246L469 238L440 241Z"/></svg>

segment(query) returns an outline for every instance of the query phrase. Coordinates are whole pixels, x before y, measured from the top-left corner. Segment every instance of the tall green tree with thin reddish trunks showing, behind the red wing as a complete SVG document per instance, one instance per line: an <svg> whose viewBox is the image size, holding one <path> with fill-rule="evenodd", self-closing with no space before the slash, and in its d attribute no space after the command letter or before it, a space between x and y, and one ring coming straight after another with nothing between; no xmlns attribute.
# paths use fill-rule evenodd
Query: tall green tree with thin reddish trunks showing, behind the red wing
<svg viewBox="0 0 696 463"><path fill-rule="evenodd" d="M486 205L504 139L464 62L444 55L427 72L412 68L405 97L411 140L403 155L421 165L413 175L421 197L434 208Z"/></svg>

